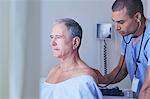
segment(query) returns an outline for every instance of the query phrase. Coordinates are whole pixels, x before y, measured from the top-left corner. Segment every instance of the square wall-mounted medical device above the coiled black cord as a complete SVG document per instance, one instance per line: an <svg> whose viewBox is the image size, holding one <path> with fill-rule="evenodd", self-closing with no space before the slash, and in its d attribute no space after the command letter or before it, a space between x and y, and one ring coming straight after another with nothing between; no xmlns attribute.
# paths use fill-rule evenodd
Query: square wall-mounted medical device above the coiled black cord
<svg viewBox="0 0 150 99"><path fill-rule="evenodd" d="M111 39L112 38L112 24L111 23L97 24L97 38Z"/></svg>

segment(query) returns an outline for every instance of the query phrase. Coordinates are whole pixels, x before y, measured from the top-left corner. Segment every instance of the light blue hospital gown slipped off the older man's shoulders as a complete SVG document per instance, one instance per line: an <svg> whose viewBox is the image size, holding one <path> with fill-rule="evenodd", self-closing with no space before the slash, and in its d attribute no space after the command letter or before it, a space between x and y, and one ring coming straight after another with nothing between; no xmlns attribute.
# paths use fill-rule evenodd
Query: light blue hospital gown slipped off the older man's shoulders
<svg viewBox="0 0 150 99"><path fill-rule="evenodd" d="M40 82L40 99L103 99L92 76L81 75L66 81L50 84Z"/></svg>

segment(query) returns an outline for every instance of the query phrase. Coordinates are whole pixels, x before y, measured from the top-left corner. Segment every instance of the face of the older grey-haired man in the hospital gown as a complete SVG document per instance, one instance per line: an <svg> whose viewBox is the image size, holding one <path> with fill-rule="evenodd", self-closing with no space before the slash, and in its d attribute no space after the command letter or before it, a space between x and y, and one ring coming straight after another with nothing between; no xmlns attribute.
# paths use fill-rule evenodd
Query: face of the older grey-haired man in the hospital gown
<svg viewBox="0 0 150 99"><path fill-rule="evenodd" d="M64 23L56 24L50 35L53 55L57 58L67 58L72 53L72 38L68 34L68 29Z"/></svg>

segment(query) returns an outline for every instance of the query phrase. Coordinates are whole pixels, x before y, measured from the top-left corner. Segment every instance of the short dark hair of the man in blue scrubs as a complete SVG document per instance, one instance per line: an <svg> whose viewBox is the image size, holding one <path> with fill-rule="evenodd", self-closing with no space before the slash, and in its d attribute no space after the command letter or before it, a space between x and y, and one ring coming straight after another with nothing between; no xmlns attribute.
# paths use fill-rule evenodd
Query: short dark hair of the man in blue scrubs
<svg viewBox="0 0 150 99"><path fill-rule="evenodd" d="M112 11L119 11L126 7L129 17L133 17L137 12L144 17L143 3L141 0L116 0L112 5Z"/></svg>

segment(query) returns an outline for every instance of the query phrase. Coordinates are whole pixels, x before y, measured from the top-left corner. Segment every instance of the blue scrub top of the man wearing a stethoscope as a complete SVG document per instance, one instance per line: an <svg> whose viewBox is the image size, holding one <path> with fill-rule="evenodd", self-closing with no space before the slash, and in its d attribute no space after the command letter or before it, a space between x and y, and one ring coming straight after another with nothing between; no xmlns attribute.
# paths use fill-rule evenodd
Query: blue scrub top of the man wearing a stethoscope
<svg viewBox="0 0 150 99"><path fill-rule="evenodd" d="M126 36L125 40L129 41L131 36L132 35ZM149 38L150 38L150 20L147 20L146 30L144 33L144 38L143 38L143 43L142 43L142 48L141 48L141 53L140 53L140 58L139 58L140 63L137 63L136 59L139 54L142 36L139 38L139 41L135 45L133 45L134 39L132 39L131 42L127 45L125 59L126 59L128 74L130 76L131 81L133 80L134 72L136 69L136 63L138 65L136 78L140 80L140 83L138 86L137 95L139 95L140 89L142 85L144 84L147 66L150 65L150 40L147 42ZM145 44L146 44L146 47L144 48ZM122 40L121 47L122 47L123 54L125 53L125 46L126 46L126 43L124 42L124 40ZM147 57L148 60L146 59L145 56Z"/></svg>

